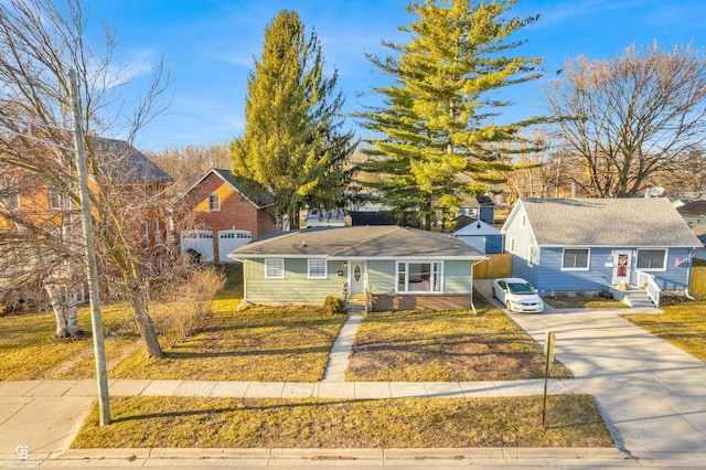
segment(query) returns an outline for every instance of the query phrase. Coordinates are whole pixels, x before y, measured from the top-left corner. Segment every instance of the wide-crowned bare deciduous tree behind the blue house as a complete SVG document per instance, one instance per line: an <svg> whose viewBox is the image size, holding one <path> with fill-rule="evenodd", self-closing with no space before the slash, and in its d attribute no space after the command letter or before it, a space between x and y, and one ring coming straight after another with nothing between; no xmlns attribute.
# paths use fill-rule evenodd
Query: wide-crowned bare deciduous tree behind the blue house
<svg viewBox="0 0 706 470"><path fill-rule="evenodd" d="M547 98L590 196L632 196L651 177L677 171L706 139L706 62L691 46L578 57Z"/></svg>

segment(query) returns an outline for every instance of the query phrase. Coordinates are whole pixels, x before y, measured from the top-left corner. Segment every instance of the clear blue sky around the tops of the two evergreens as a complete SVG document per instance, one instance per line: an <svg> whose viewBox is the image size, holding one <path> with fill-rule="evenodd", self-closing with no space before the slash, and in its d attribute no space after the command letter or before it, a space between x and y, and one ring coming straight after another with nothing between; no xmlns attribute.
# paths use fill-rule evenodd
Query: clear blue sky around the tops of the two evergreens
<svg viewBox="0 0 706 470"><path fill-rule="evenodd" d="M118 30L117 58L147 74L160 56L172 77L169 109L138 136L141 150L208 145L243 133L247 76L259 57L265 26L282 9L299 13L317 32L329 66L339 71L344 111L361 110L359 97L387 78L376 74L366 53L385 54L381 40L405 43L398 31L414 18L406 0L93 0L92 21ZM578 55L607 58L625 46L706 46L704 0L520 0L514 13L539 20L514 38L528 42L518 51L544 57L546 78L507 90L515 105L511 119L542 114L543 89L553 71ZM355 127L352 119L349 127ZM364 137L359 131L359 137Z"/></svg>

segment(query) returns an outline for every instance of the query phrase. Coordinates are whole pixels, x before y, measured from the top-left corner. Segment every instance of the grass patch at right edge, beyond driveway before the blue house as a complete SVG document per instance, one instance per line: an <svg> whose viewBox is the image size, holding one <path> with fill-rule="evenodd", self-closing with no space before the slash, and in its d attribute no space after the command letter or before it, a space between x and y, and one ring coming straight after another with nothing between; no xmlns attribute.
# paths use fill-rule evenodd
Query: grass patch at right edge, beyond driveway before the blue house
<svg viewBox="0 0 706 470"><path fill-rule="evenodd" d="M706 361L706 300L661 306L662 313L624 319L702 361Z"/></svg>

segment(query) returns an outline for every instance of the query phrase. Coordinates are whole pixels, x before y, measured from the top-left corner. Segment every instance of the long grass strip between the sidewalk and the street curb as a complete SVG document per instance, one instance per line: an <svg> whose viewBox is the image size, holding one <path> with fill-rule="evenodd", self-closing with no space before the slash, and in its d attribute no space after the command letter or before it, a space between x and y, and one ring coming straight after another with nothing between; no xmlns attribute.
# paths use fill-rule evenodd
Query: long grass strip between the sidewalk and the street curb
<svg viewBox="0 0 706 470"><path fill-rule="evenodd" d="M111 398L94 406L73 448L612 447L588 395L372 400Z"/></svg>

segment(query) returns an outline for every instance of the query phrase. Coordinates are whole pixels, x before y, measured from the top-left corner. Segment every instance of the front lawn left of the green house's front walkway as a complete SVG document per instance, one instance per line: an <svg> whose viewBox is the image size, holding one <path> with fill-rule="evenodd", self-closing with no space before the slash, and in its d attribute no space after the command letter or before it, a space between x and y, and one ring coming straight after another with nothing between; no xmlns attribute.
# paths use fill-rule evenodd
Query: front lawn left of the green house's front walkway
<svg viewBox="0 0 706 470"><path fill-rule="evenodd" d="M313 308L253 308L235 312L216 300L211 324L165 351L135 353L111 378L317 382L345 321Z"/></svg>

